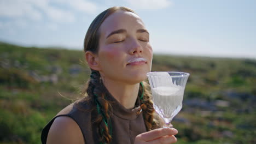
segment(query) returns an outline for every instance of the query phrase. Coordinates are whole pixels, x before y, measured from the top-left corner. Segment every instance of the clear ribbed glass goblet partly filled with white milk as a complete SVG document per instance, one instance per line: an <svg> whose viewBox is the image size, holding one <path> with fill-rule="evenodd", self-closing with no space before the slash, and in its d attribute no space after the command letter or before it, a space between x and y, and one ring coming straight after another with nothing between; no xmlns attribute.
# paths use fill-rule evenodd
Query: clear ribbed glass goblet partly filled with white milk
<svg viewBox="0 0 256 144"><path fill-rule="evenodd" d="M182 109L184 89L189 73L155 71L147 73L153 95L154 109L165 124L163 128L172 128L171 121Z"/></svg>

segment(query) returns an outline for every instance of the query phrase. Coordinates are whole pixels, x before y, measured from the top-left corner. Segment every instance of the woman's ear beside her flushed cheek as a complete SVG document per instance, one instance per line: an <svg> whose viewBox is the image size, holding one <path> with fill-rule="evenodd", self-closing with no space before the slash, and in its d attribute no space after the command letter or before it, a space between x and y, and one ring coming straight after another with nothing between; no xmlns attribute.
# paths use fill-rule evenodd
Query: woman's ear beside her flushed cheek
<svg viewBox="0 0 256 144"><path fill-rule="evenodd" d="M91 51L86 51L85 52L85 59L91 69L100 70L100 65L98 63L98 56L95 55L95 53Z"/></svg>

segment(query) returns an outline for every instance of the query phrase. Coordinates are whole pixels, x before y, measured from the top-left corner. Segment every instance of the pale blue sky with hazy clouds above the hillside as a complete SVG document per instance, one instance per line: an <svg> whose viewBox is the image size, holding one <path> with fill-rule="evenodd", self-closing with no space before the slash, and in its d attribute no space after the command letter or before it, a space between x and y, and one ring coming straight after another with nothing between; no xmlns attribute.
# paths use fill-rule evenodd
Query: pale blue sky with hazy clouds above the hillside
<svg viewBox="0 0 256 144"><path fill-rule="evenodd" d="M95 17L136 11L154 53L256 59L255 0L0 0L0 41L83 50Z"/></svg>

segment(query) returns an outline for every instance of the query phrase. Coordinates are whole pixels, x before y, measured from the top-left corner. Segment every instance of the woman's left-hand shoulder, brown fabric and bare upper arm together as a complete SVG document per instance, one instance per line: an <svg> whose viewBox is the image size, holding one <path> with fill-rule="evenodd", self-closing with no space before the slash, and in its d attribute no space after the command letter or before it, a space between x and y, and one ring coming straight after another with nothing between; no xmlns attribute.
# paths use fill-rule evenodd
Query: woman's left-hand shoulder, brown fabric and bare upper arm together
<svg viewBox="0 0 256 144"><path fill-rule="evenodd" d="M66 106L43 128L42 143L84 143L84 135L90 129L91 111L90 103L77 100Z"/></svg>

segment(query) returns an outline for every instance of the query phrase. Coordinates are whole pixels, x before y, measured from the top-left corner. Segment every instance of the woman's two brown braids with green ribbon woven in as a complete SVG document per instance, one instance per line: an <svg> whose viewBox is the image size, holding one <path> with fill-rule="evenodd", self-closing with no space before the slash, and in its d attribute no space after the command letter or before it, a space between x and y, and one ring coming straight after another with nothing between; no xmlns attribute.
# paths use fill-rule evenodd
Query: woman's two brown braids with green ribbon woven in
<svg viewBox="0 0 256 144"><path fill-rule="evenodd" d="M111 101L105 99L106 89L98 71L92 70L90 79L87 82L87 87L83 92L86 95L84 100L89 101L92 104L91 111L97 113L94 118L94 125L96 125L97 133L100 136L100 141L103 143L110 143L112 140L112 123L110 116L112 115ZM155 119L155 111L153 108L153 101L149 85L147 82L141 82L139 86L138 97L141 102L141 110L143 113L144 123L147 131L156 129L159 127L158 121Z"/></svg>

